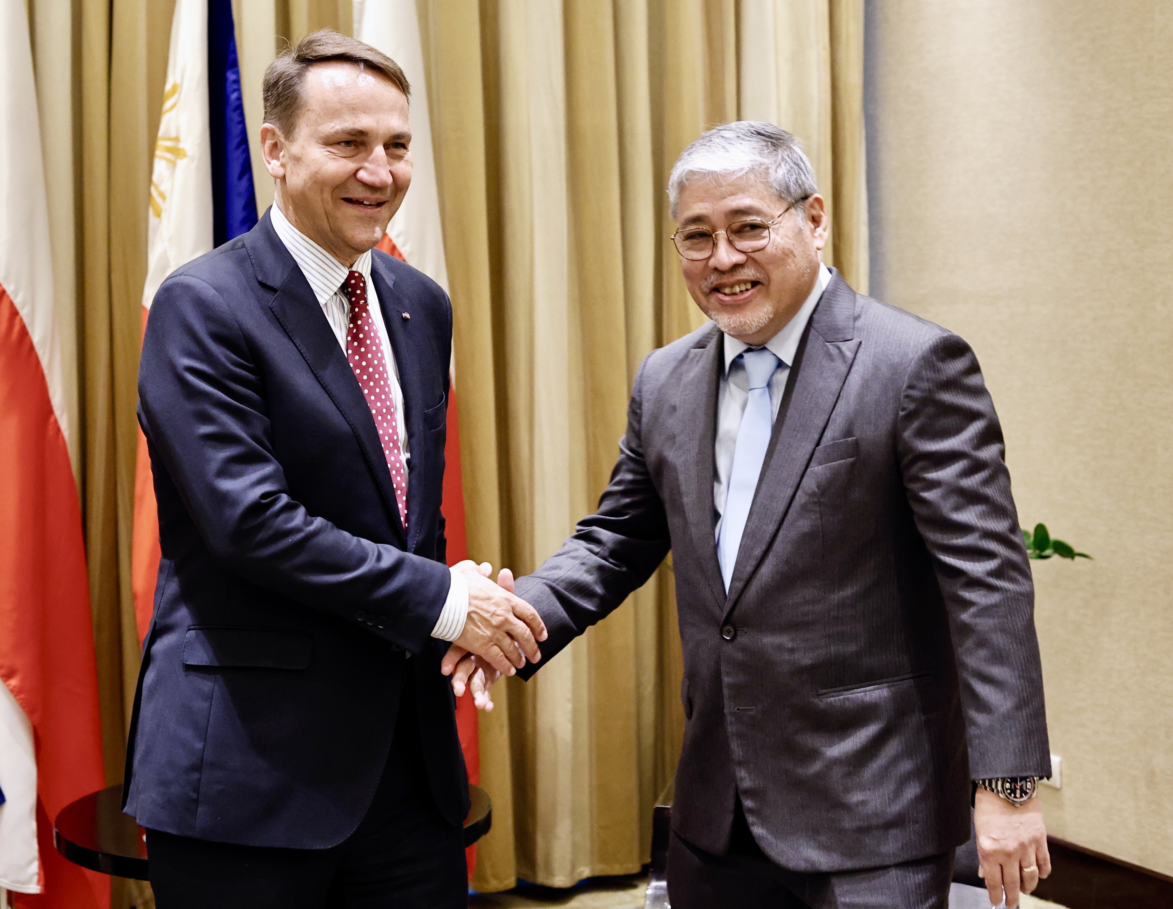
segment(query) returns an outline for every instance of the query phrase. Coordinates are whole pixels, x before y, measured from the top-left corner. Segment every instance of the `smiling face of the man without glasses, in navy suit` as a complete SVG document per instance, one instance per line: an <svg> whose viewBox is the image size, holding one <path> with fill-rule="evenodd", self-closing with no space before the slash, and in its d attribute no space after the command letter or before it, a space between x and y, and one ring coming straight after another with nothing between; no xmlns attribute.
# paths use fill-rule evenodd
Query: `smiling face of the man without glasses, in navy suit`
<svg viewBox="0 0 1173 909"><path fill-rule="evenodd" d="M412 183L404 93L354 63L310 67L292 135L260 128L276 202L299 231L350 267L373 247Z"/></svg>

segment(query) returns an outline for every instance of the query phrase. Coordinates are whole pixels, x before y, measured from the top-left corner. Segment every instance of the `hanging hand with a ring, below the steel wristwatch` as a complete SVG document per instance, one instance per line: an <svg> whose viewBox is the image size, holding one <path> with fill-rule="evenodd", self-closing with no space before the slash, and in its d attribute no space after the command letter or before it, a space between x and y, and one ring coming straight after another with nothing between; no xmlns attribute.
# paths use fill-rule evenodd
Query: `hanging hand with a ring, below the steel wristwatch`
<svg viewBox="0 0 1173 909"><path fill-rule="evenodd" d="M1040 877L1051 874L1051 854L1046 849L1046 827L1038 796L1015 807L1001 795L978 789L974 801L974 829L977 833L977 873L985 881L990 904L1001 905L1005 891L1006 905L1015 909L1019 894L1031 893Z"/></svg>

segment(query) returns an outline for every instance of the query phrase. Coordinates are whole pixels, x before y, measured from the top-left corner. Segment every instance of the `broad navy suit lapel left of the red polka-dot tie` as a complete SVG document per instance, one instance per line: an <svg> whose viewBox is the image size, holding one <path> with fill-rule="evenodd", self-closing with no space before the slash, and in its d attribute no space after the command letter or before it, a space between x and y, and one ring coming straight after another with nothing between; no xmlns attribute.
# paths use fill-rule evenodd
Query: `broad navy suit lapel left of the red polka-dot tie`
<svg viewBox="0 0 1173 909"><path fill-rule="evenodd" d="M253 237L253 233L258 236ZM391 514L392 525L402 540L404 529L399 521L399 507L395 504L395 489L391 483L391 472L387 470L371 408L367 407L338 338L326 321L326 314L318 305L301 270L273 230L267 212L250 233L245 247L257 279L277 291L269 301L269 308L354 432L379 494Z"/></svg>

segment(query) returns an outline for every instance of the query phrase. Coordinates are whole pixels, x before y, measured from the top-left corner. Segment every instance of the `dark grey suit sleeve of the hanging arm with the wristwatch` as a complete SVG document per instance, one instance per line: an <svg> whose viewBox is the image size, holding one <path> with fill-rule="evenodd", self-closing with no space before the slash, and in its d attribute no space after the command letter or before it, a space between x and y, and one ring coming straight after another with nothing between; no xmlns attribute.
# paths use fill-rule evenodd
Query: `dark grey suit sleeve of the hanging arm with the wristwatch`
<svg viewBox="0 0 1173 909"><path fill-rule="evenodd" d="M971 775L1046 776L1030 562L1002 427L965 341L942 334L921 352L899 421L908 502L949 613Z"/></svg>

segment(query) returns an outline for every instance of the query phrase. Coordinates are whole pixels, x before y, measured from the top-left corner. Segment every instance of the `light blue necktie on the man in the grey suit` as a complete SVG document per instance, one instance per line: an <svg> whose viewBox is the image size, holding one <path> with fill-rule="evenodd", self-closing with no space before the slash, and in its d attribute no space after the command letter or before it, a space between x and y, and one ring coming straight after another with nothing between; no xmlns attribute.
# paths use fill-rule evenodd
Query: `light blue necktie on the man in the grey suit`
<svg viewBox="0 0 1173 909"><path fill-rule="evenodd" d="M758 488L761 464L766 460L769 435L774 426L774 412L769 403L769 380L781 360L765 347L743 351L738 359L745 364L750 379L750 400L741 414L741 426L737 430L733 447L733 466L725 493L725 510L721 513L721 532L717 540L717 561L721 565L721 579L728 592L737 564L737 551L741 547L750 506Z"/></svg>

